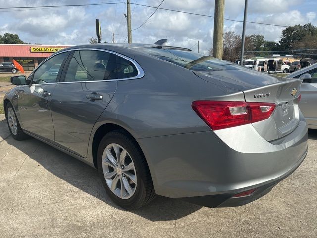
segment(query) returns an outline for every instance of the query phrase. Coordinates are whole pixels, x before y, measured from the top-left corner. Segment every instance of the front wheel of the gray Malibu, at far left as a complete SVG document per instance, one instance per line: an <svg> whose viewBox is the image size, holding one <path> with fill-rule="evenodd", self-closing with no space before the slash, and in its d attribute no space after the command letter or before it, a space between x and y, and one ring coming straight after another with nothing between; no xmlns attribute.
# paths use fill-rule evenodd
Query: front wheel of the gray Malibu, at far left
<svg viewBox="0 0 317 238"><path fill-rule="evenodd" d="M16 117L14 108L11 103L8 103L5 107L5 118L8 124L12 137L16 140L25 140L28 135L21 129L18 118Z"/></svg>

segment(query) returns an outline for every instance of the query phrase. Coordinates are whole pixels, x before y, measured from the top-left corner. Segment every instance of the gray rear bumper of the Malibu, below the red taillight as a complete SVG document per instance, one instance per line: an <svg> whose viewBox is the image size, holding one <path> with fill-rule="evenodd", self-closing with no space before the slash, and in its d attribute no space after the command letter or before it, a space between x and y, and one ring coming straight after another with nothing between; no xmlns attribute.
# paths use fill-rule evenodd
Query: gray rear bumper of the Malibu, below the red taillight
<svg viewBox="0 0 317 238"><path fill-rule="evenodd" d="M158 195L204 206L237 206L267 193L304 160L308 128L299 124L276 141L264 140L254 127L138 139ZM233 195L257 188L248 197Z"/></svg>

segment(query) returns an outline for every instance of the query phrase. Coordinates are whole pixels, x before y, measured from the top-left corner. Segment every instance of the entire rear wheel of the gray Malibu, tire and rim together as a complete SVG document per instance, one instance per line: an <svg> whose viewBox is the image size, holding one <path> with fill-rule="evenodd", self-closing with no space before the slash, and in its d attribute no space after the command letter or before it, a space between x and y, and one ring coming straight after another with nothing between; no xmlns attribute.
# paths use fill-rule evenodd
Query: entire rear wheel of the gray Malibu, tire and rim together
<svg viewBox="0 0 317 238"><path fill-rule="evenodd" d="M125 209L137 209L155 197L151 174L135 140L123 130L107 133L98 152L98 172L110 198Z"/></svg>

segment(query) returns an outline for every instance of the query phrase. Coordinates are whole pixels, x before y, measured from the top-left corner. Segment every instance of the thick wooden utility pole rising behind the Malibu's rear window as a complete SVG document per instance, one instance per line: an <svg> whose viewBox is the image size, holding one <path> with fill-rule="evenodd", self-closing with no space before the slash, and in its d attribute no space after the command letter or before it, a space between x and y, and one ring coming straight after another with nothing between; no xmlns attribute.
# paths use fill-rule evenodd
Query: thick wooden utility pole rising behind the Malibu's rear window
<svg viewBox="0 0 317 238"><path fill-rule="evenodd" d="M224 0L215 0L213 23L213 57L222 60Z"/></svg>

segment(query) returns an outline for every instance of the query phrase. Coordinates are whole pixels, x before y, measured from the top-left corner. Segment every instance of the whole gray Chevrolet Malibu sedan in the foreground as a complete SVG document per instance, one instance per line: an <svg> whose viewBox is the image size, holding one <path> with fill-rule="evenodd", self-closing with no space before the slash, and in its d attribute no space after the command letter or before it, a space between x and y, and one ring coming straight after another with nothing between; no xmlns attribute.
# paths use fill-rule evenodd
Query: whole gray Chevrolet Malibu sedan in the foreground
<svg viewBox="0 0 317 238"><path fill-rule="evenodd" d="M57 75L47 76L59 64ZM186 48L75 46L11 82L18 86L4 108L12 137L35 137L96 167L109 197L127 209L155 194L243 205L307 154L301 79Z"/></svg>

